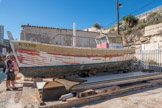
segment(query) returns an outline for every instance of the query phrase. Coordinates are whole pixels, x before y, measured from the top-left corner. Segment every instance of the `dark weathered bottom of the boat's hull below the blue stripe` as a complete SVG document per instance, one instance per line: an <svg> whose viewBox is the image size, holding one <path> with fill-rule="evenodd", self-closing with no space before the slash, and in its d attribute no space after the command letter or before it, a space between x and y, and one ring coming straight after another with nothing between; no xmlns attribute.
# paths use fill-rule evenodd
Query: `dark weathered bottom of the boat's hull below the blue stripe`
<svg viewBox="0 0 162 108"><path fill-rule="evenodd" d="M124 65L123 65L124 64ZM50 77L55 75L72 75L80 72L114 72L123 70L130 64L130 61L82 64L82 65L63 65L63 66L39 66L39 67L20 67L21 72L26 77ZM39 74L38 74L39 73Z"/></svg>

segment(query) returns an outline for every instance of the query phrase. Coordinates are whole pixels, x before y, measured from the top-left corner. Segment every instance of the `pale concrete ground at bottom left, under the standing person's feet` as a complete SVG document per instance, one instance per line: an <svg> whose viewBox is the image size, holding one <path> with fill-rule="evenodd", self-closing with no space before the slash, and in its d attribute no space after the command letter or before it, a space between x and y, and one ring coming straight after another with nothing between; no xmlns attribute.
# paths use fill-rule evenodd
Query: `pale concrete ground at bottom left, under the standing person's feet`
<svg viewBox="0 0 162 108"><path fill-rule="evenodd" d="M37 90L33 81L17 83L16 91L6 91L6 81L0 84L0 108L38 108Z"/></svg>

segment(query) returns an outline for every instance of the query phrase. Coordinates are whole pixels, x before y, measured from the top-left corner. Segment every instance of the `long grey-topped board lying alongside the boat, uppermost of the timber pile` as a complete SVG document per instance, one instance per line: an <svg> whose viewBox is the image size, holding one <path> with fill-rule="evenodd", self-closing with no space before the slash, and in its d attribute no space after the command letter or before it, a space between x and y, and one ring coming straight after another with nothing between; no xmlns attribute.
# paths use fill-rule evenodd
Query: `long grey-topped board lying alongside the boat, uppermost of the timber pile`
<svg viewBox="0 0 162 108"><path fill-rule="evenodd" d="M113 74L105 76L95 76L90 78L81 78L87 80L87 82L74 86L71 91L84 91L88 89L97 89L103 87L109 87L114 85L123 85L135 82L142 82L146 80L162 78L162 74L159 72L132 72L124 74Z"/></svg>

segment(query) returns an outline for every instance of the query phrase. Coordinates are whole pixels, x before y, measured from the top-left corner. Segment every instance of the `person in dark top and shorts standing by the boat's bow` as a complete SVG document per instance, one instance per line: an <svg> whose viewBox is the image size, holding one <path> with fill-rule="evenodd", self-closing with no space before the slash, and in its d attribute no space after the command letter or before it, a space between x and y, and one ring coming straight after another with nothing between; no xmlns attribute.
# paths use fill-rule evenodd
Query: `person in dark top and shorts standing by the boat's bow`
<svg viewBox="0 0 162 108"><path fill-rule="evenodd" d="M11 55L6 56L5 66L4 66L2 73L4 73L4 72L7 75L6 91L10 91L10 88L9 88L10 82L12 83L13 90L16 90L16 88L15 88L15 74L14 74L14 68L13 68L13 65L12 65Z"/></svg>

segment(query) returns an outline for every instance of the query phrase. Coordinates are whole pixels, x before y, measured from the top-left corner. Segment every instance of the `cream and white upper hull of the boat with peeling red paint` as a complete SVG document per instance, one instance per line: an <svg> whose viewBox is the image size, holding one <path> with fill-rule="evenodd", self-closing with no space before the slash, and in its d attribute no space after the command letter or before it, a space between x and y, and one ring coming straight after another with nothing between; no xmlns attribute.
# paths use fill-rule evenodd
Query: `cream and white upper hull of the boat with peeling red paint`
<svg viewBox="0 0 162 108"><path fill-rule="evenodd" d="M79 68L67 70L79 71L83 70L86 65L95 68L97 64L118 64L130 61L134 56L132 49L73 48L27 41L12 41L12 49L19 67L23 69L60 66L67 69L67 67L78 66ZM86 69L93 68L87 67Z"/></svg>

